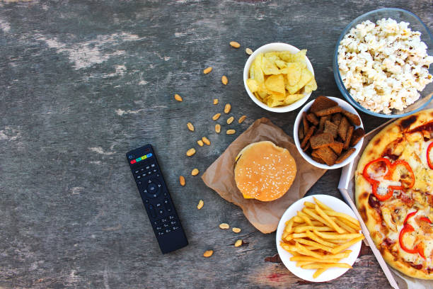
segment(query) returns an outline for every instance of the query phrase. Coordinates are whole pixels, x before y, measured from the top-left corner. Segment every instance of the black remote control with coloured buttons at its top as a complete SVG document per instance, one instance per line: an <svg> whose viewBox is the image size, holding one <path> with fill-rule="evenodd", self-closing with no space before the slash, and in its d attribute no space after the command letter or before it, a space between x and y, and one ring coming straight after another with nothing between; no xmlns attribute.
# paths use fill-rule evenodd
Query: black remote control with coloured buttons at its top
<svg viewBox="0 0 433 289"><path fill-rule="evenodd" d="M144 145L127 152L127 160L162 253L186 246L188 241L185 232L152 146Z"/></svg>

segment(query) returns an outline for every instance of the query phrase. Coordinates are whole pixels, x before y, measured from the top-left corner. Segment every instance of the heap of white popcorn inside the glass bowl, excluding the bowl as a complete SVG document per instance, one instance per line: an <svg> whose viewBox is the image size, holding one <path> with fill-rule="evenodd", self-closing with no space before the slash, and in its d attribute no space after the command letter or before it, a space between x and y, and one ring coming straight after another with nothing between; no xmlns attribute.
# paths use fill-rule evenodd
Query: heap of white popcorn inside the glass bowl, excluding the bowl
<svg viewBox="0 0 433 289"><path fill-rule="evenodd" d="M375 113L403 111L433 81L427 45L409 23L388 18L364 21L338 47L338 67L347 91Z"/></svg>

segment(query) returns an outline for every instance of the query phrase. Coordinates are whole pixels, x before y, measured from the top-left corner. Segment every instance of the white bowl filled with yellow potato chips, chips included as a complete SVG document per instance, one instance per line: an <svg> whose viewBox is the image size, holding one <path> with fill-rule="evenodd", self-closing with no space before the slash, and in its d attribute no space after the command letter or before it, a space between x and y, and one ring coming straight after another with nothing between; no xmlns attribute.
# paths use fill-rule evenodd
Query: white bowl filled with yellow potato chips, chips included
<svg viewBox="0 0 433 289"><path fill-rule="evenodd" d="M317 89L306 50L278 42L263 45L248 58L243 84L258 106L275 113L294 111Z"/></svg>

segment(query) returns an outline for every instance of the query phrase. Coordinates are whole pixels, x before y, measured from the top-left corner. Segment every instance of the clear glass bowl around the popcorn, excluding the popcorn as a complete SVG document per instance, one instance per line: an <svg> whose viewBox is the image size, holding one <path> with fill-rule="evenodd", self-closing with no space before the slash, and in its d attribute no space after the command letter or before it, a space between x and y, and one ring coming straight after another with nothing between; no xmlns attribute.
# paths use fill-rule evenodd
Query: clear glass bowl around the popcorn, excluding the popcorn
<svg viewBox="0 0 433 289"><path fill-rule="evenodd" d="M335 47L334 52L334 61L333 61L333 70L334 70L334 77L335 81L337 82L338 89L340 89L341 93L347 101L352 104L355 108L359 109L359 111L363 111L364 113L369 113L370 115L379 116L380 118L400 118L405 115L410 115L412 113L415 113L416 111L420 111L422 108L427 106L427 104L432 100L433 98L433 83L428 84L425 86L425 89L420 92L420 98L415 101L415 103L412 103L410 106L405 108L403 111L398 111L396 109L393 109L393 111L389 114L385 113L374 113L373 111L369 111L368 109L361 106L357 101L352 98L349 91L345 88L345 85L342 82L341 76L340 76L340 69L338 68L338 46L340 45L340 42L342 38L345 37L345 35L350 31L350 29L357 26L359 23L362 23L363 21L369 20L373 23L376 23L376 21L380 20L381 18L392 18L397 23L400 23L401 21L410 23L409 28L412 31L420 31L421 33L421 40L425 42L427 45L427 54L433 55L433 36L432 33L430 33L427 26L425 26L424 23L422 23L421 19L415 16L415 14L405 11L403 9L399 8L381 8L374 11L370 11L368 13L363 14L362 16L359 16L356 18L352 23L350 23L345 30L340 35L340 38L338 38L337 46ZM433 74L433 64L429 67L429 73Z"/></svg>

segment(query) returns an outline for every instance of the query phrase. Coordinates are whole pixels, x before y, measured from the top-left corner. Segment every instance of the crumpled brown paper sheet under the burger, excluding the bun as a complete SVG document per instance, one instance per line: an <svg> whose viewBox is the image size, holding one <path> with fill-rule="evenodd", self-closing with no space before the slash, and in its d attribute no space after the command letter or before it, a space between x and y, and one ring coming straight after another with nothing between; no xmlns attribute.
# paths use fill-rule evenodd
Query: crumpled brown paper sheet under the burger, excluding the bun
<svg viewBox="0 0 433 289"><path fill-rule="evenodd" d="M235 158L241 149L253 142L269 140L279 147L289 150L296 162L296 177L289 191L272 202L245 199L234 181ZM226 151L207 168L202 179L204 183L216 191L219 196L238 205L248 221L262 233L271 233L277 229L283 213L325 174L325 169L316 168L306 162L299 154L291 137L274 125L267 118L260 118L234 140Z"/></svg>

